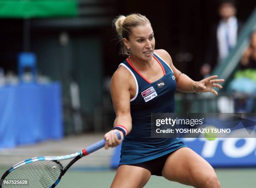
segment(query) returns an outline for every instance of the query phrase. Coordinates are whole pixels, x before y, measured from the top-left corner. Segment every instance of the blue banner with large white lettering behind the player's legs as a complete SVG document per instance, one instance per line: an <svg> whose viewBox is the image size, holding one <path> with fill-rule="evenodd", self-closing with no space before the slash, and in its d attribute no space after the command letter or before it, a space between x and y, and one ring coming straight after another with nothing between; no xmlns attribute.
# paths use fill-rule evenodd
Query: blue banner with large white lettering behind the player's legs
<svg viewBox="0 0 256 188"><path fill-rule="evenodd" d="M183 138L185 144L201 155L213 167L255 167L256 138ZM111 168L117 168L120 145L115 149Z"/></svg>

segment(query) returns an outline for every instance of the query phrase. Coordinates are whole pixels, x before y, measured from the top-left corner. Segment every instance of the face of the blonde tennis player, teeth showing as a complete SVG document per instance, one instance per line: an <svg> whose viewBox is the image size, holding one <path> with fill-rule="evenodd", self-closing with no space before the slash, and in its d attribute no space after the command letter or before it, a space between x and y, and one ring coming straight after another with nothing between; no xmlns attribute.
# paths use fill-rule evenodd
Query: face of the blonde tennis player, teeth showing
<svg viewBox="0 0 256 188"><path fill-rule="evenodd" d="M136 56L143 61L151 60L155 49L155 38L151 25L147 23L132 28L129 40L126 40L125 45L130 50L131 56Z"/></svg>

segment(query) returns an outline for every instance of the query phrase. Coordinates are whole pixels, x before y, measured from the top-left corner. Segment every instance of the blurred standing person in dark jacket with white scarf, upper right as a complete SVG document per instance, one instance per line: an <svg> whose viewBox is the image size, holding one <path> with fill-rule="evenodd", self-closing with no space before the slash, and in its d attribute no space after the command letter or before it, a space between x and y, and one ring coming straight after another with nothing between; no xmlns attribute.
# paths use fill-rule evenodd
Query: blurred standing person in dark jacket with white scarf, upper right
<svg viewBox="0 0 256 188"><path fill-rule="evenodd" d="M233 0L222 0L218 14L220 21L210 31L210 41L207 49L205 64L201 67L202 77L209 76L215 65L225 59L236 45L241 22L236 18L236 7Z"/></svg>

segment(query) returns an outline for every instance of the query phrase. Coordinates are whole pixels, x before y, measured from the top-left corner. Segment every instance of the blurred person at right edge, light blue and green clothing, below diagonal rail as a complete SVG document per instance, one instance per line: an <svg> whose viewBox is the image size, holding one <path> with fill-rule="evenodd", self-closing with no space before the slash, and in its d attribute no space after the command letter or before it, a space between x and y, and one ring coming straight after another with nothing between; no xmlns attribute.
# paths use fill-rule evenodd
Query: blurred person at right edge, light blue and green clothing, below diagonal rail
<svg viewBox="0 0 256 188"><path fill-rule="evenodd" d="M256 96L256 31L251 34L250 46L241 58L240 70L228 89L235 92L235 111L252 112Z"/></svg>

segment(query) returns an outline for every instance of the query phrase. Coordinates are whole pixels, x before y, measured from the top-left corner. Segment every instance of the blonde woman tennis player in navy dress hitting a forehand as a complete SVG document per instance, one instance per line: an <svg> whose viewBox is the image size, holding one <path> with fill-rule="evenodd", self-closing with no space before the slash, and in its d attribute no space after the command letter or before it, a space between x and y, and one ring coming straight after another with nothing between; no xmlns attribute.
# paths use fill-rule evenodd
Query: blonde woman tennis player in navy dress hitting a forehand
<svg viewBox="0 0 256 188"><path fill-rule="evenodd" d="M149 20L140 14L120 15L114 25L129 57L113 74L111 94L116 113L114 128L105 134L105 148L120 144L120 163L111 188L141 188L151 175L163 176L196 188L220 188L207 161L178 138L151 138L151 113L175 112L175 90L218 93L212 87L223 79L210 76L193 81L177 70L170 55L155 50Z"/></svg>

